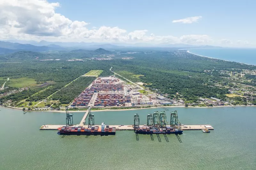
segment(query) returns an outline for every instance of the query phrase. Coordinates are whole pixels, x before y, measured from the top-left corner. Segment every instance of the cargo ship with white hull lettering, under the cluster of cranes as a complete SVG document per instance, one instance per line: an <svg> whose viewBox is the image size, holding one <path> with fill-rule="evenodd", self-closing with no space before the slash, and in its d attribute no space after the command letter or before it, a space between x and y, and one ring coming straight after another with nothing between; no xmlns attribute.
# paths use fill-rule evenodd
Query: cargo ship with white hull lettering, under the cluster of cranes
<svg viewBox="0 0 256 170"><path fill-rule="evenodd" d="M139 134L182 134L183 130L166 126L164 128L155 128L149 126L141 126L135 129L135 133Z"/></svg>

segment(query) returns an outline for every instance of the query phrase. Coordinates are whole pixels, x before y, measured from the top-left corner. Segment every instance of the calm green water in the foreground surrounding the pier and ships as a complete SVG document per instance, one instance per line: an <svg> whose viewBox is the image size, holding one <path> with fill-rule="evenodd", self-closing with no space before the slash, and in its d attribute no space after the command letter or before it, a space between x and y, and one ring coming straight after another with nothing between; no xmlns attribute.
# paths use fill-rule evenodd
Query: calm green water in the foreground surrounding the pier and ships
<svg viewBox="0 0 256 170"><path fill-rule="evenodd" d="M183 124L211 124L211 133L175 135L60 136L39 130L42 124L64 124L66 114L28 112L0 107L0 169L256 169L256 107L168 108ZM162 109L93 112L95 124L132 124L133 115ZM168 113L168 112L167 112ZM74 113L79 123L84 113ZM170 116L168 114L168 120ZM169 142L167 142L169 141Z"/></svg>

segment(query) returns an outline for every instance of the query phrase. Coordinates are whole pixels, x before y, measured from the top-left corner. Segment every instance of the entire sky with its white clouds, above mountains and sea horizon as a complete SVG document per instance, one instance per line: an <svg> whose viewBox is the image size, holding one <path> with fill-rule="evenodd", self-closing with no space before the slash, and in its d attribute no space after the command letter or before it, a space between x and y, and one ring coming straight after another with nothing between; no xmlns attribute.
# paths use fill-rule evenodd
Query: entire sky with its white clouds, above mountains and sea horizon
<svg viewBox="0 0 256 170"><path fill-rule="evenodd" d="M0 0L0 40L256 47L256 1Z"/></svg>

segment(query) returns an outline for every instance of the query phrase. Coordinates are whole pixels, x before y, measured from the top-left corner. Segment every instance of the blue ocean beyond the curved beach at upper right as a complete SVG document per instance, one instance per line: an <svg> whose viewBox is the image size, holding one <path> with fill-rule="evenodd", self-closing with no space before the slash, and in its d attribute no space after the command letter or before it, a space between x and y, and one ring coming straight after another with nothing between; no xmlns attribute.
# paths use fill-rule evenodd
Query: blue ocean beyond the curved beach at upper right
<svg viewBox="0 0 256 170"><path fill-rule="evenodd" d="M188 48L190 53L256 65L256 48Z"/></svg>

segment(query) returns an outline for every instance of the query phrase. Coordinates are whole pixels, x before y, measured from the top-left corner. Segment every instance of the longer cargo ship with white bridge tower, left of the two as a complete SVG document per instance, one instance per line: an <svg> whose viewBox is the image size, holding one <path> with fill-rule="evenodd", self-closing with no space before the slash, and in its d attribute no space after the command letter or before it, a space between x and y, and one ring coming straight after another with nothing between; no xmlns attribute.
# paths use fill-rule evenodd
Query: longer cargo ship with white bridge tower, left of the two
<svg viewBox="0 0 256 170"><path fill-rule="evenodd" d="M99 126L62 126L58 128L60 135L116 135L116 127L109 127L105 123Z"/></svg>

